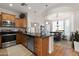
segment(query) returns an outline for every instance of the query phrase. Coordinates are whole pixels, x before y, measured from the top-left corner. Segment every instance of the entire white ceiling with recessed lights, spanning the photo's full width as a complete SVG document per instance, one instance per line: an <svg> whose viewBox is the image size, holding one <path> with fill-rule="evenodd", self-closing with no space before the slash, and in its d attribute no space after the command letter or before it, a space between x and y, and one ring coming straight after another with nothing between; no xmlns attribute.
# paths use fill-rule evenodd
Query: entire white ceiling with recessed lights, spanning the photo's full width
<svg viewBox="0 0 79 59"><path fill-rule="evenodd" d="M23 13L41 13L47 9L56 8L58 6L76 6L79 7L78 3L26 3L27 5L22 6L22 3L12 3L13 6L9 6L10 3L0 3L0 8L7 9L13 12ZM46 5L48 5L46 7ZM28 7L31 7L29 10Z"/></svg>

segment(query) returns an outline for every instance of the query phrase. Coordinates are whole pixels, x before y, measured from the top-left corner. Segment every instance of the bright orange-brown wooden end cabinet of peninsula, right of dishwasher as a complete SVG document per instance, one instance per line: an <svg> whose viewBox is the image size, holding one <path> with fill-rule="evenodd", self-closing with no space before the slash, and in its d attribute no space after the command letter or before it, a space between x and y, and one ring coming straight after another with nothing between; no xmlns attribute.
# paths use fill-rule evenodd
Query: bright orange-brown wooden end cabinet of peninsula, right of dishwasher
<svg viewBox="0 0 79 59"><path fill-rule="evenodd" d="M35 54L38 56L48 55L49 37L35 37Z"/></svg>

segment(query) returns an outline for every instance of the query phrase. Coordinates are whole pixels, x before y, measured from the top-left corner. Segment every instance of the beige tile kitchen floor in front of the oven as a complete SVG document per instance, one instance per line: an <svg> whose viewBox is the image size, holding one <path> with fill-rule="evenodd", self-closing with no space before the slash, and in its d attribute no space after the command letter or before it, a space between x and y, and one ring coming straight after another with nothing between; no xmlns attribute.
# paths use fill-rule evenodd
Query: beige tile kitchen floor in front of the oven
<svg viewBox="0 0 79 59"><path fill-rule="evenodd" d="M34 56L34 54L26 49L23 45L19 44L0 49L0 56Z"/></svg>

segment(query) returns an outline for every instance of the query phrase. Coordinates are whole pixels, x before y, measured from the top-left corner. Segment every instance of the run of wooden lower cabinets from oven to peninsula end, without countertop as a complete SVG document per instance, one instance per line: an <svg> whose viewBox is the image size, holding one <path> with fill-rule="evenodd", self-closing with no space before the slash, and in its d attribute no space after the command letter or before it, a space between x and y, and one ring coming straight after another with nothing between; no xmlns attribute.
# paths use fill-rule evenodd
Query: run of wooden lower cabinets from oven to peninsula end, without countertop
<svg viewBox="0 0 79 59"><path fill-rule="evenodd" d="M24 45L38 56L48 55L49 37L34 36L32 38L32 36L29 36L29 38L27 35L24 35L22 33L16 34L17 44ZM34 44L32 44L32 42L34 42ZM33 46L34 46L34 50L33 50Z"/></svg>

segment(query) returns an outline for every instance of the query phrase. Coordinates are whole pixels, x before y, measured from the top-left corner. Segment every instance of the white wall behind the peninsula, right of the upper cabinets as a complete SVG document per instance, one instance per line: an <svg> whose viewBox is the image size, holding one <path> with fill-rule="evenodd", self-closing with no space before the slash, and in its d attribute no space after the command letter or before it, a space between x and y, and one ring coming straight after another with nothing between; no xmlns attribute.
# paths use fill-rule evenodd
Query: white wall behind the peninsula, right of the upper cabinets
<svg viewBox="0 0 79 59"><path fill-rule="evenodd" d="M43 25L43 20L44 20L44 17L42 15L42 13L28 13L28 27L31 27L32 26L32 23L38 23L39 26L38 27L38 31L37 33L40 32L40 25Z"/></svg>

